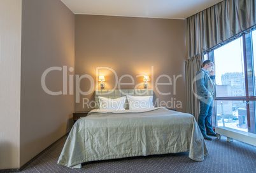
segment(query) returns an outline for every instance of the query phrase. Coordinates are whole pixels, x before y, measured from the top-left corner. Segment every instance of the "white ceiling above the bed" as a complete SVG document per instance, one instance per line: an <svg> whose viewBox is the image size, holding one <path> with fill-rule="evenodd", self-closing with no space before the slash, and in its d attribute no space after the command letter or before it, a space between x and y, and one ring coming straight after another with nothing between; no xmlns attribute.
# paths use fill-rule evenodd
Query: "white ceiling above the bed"
<svg viewBox="0 0 256 173"><path fill-rule="evenodd" d="M184 19L223 0L61 0L75 14Z"/></svg>

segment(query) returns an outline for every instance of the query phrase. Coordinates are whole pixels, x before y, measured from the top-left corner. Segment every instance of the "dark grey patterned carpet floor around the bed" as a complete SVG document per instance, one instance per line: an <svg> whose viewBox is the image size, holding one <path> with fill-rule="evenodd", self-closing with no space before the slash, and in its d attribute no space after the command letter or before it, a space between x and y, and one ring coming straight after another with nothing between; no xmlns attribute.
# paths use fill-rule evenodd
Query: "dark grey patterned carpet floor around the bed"
<svg viewBox="0 0 256 173"><path fill-rule="evenodd" d="M103 160L83 164L82 169L69 169L57 164L67 136L64 136L20 172L256 172L256 146L227 138L206 141L210 155L203 162L188 158L188 152ZM17 170L0 170L17 172Z"/></svg>

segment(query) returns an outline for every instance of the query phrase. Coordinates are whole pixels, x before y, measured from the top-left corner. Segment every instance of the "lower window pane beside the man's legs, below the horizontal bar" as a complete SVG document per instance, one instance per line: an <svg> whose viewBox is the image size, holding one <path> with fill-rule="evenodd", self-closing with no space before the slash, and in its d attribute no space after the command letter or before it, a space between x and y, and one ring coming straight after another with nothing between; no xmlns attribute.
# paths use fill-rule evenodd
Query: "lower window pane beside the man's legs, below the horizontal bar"
<svg viewBox="0 0 256 173"><path fill-rule="evenodd" d="M244 101L217 101L218 127L230 127L248 132L247 110Z"/></svg>

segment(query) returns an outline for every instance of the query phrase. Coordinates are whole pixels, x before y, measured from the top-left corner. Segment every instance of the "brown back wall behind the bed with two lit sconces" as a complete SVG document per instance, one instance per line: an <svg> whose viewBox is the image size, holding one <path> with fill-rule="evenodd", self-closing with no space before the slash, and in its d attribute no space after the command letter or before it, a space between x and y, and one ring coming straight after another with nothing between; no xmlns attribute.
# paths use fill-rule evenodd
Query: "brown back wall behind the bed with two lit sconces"
<svg viewBox="0 0 256 173"><path fill-rule="evenodd" d="M96 67L108 67L117 73L115 78L110 70L99 70L99 75L106 79L105 89L113 89L115 80L122 75L131 75L134 84L120 88L134 89L143 82L143 77L137 75L149 75L149 88L154 90L155 101L169 101L167 106L185 112L185 20L75 15L75 74L88 74L94 80L81 80L83 92L99 86ZM172 85L156 86L160 75L169 76ZM174 84L178 75L182 77ZM124 77L121 82L131 83L132 79ZM166 76L158 82L170 83ZM142 85L138 86L138 89L142 88ZM171 94L161 94L169 92ZM75 103L75 111L92 109L83 106L84 98L92 101L94 94L80 94L80 103ZM181 103L181 108L177 103Z"/></svg>

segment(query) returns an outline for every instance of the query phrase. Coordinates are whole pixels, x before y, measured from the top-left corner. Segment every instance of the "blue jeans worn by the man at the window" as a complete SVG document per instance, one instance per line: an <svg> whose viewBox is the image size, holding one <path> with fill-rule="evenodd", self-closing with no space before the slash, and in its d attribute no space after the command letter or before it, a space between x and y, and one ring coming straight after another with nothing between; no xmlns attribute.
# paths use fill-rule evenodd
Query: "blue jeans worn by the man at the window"
<svg viewBox="0 0 256 173"><path fill-rule="evenodd" d="M206 101L200 101L200 113L198 117L198 125L199 129L202 132L202 134L206 134L206 132L210 132L213 130L213 127L211 127L211 113L213 111L213 100L210 101L210 103ZM204 129L205 125L205 129Z"/></svg>

